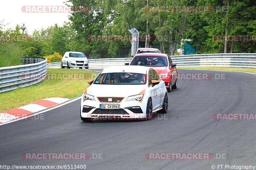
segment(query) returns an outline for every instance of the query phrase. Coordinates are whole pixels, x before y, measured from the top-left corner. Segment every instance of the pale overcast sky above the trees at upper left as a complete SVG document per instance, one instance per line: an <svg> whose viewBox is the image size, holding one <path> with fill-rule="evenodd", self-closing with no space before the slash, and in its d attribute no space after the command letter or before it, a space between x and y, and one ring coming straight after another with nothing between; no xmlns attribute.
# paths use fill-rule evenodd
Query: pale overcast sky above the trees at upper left
<svg viewBox="0 0 256 170"><path fill-rule="evenodd" d="M23 6L66 6L66 0L0 0L0 21L6 25L4 28L15 28L15 26L25 24L27 32L32 35L33 31L42 27L52 26L55 23L62 26L64 21L69 21L68 14L64 12L39 13L23 12Z"/></svg>

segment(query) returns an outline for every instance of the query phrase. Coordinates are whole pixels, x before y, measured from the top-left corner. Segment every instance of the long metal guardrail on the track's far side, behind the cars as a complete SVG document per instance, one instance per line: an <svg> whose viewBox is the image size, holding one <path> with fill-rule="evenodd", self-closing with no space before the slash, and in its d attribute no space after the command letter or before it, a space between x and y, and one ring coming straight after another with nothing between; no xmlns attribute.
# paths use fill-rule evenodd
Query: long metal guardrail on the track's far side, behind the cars
<svg viewBox="0 0 256 170"><path fill-rule="evenodd" d="M228 54L194 54L173 55L172 62L177 66L216 66L216 67L247 67L256 68L255 53L228 53ZM132 58L102 58L89 59L89 68L101 69L109 66L124 65ZM60 68L61 62L48 63L47 67Z"/></svg>

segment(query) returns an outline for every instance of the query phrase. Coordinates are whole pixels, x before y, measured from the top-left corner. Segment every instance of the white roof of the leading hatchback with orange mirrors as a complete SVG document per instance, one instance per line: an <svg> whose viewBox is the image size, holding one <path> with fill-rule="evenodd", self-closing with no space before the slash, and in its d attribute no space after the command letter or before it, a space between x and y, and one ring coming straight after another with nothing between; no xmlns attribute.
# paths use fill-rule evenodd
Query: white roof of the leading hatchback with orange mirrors
<svg viewBox="0 0 256 170"><path fill-rule="evenodd" d="M141 73L146 74L150 68L138 65L122 65L107 67L101 73L115 73L115 72L128 72L128 73Z"/></svg>

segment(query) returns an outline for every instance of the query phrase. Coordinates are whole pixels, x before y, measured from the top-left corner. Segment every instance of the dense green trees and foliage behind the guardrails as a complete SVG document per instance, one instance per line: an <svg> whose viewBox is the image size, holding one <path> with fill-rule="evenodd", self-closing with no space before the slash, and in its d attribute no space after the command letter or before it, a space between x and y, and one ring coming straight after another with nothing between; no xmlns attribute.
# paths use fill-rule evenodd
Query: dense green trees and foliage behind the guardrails
<svg viewBox="0 0 256 170"><path fill-rule="evenodd" d="M74 6L88 6L88 12L72 12L71 22L35 30L29 41L10 45L25 57L43 57L54 52L80 51L89 58L128 57L130 42L89 41L91 35L130 35L135 27L140 35L154 35L149 46L160 45L161 51L177 54L181 39L191 39L196 53L223 53L224 41L217 35L256 35L256 1L254 0L68 0ZM209 6L206 12L148 12L148 6ZM227 5L229 4L229 7ZM148 30L147 30L148 20ZM227 28L226 28L227 24ZM26 34L25 24L0 33ZM139 47L145 47L140 41ZM6 47L5 47L6 48ZM183 47L184 48L184 47ZM11 50L12 51L12 50ZM15 49L13 50L15 51ZM254 42L228 41L228 53L255 53ZM17 56L14 54L9 57ZM1 56L3 57L3 56ZM2 61L0 61L2 62ZM15 63L16 64L16 63Z"/></svg>

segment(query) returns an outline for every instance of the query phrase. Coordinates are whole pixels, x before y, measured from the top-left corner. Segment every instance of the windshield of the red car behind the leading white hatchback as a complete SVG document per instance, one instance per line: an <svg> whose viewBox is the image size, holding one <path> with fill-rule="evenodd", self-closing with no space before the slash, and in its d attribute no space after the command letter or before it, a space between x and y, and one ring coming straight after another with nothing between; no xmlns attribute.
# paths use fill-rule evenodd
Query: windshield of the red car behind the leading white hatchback
<svg viewBox="0 0 256 170"><path fill-rule="evenodd" d="M141 65L141 66L167 66L166 57L159 56L137 56L132 60L131 65Z"/></svg>

